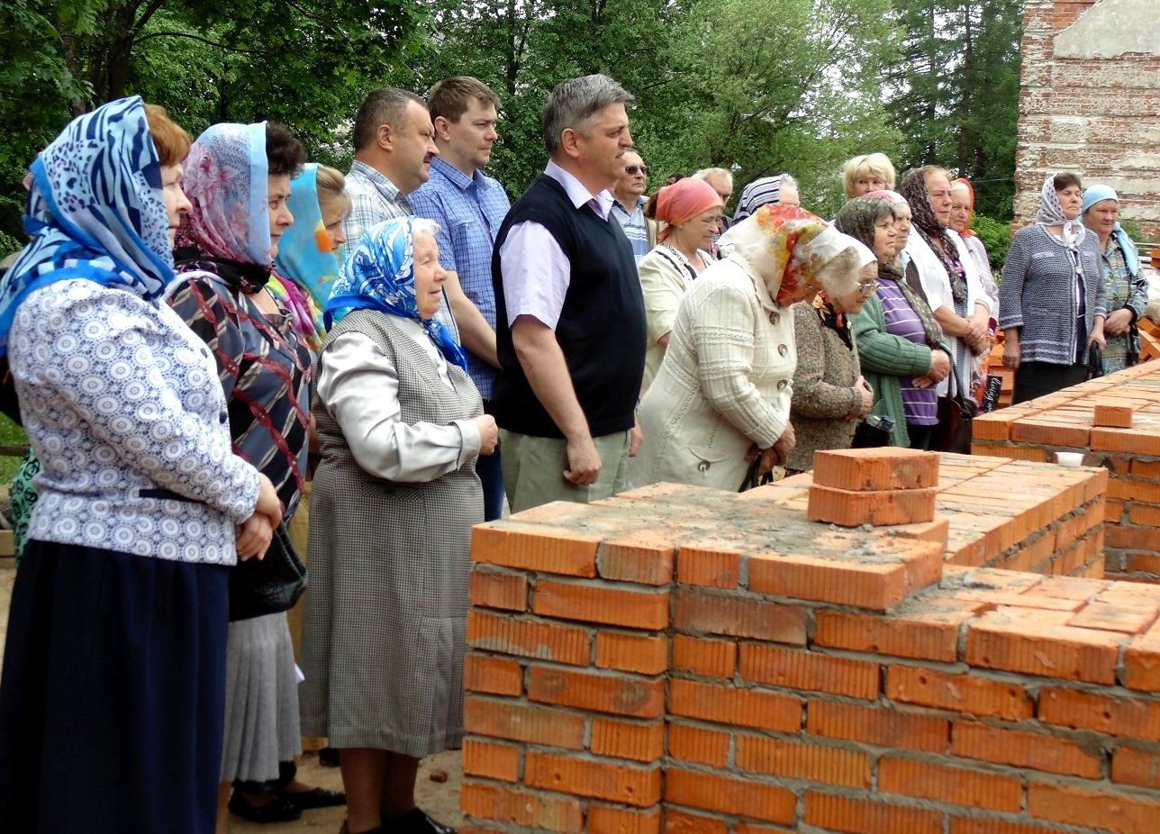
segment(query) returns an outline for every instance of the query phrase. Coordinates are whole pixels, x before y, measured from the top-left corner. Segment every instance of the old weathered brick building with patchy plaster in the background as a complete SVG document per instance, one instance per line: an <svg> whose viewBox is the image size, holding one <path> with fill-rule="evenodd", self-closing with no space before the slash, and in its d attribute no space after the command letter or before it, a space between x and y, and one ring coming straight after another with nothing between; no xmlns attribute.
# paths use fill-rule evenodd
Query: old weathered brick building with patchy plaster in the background
<svg viewBox="0 0 1160 834"><path fill-rule="evenodd" d="M1016 222L1047 172L1119 191L1122 216L1160 238L1160 14L1155 0L1027 0Z"/></svg>

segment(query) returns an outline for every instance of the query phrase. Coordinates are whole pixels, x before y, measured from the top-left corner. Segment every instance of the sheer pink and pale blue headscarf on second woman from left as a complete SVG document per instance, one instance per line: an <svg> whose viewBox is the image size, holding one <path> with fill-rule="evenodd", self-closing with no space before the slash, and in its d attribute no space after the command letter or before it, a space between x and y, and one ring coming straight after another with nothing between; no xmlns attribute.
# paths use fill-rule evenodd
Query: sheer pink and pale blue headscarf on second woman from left
<svg viewBox="0 0 1160 834"><path fill-rule="evenodd" d="M254 264L268 275L273 259L267 175L264 122L208 128L189 148L181 186L194 208L181 226L177 247ZM252 273L255 281L258 275Z"/></svg>

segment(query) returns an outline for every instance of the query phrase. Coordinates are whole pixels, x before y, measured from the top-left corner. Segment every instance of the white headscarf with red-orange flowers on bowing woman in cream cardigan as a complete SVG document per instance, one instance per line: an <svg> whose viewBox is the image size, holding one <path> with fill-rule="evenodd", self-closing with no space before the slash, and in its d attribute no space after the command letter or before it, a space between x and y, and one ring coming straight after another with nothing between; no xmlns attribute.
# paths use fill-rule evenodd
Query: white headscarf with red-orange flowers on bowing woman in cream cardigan
<svg viewBox="0 0 1160 834"><path fill-rule="evenodd" d="M860 255L854 242L817 215L795 205L762 205L722 235L730 258L745 261L782 306L800 288L820 290L824 271L849 266Z"/></svg>

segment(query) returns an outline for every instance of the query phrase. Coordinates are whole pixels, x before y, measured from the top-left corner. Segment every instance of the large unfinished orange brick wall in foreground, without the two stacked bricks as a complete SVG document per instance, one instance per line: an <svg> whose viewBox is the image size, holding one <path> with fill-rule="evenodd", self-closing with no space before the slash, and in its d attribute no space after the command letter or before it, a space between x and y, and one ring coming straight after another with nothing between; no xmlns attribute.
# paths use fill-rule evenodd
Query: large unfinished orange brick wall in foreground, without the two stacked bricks
<svg viewBox="0 0 1160 834"><path fill-rule="evenodd" d="M1107 484L947 456L938 501L996 472L1049 525ZM478 527L461 831L1155 831L1160 588L947 564L954 520L841 529L805 492Z"/></svg>

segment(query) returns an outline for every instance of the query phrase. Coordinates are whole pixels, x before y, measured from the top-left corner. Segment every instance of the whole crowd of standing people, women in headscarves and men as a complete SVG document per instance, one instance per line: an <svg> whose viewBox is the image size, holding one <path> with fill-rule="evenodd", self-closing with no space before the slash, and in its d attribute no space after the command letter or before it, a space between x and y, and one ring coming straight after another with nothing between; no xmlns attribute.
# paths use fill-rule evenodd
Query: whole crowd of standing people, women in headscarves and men
<svg viewBox="0 0 1160 834"><path fill-rule="evenodd" d="M996 285L971 183L941 167L894 190L885 155L851 159L832 223L763 175L730 216L726 168L648 194L631 103L604 75L558 85L514 202L485 173L499 97L465 77L371 92L345 175L282 125L191 139L138 97L37 157L0 282L30 442L13 831L220 834L227 811L338 804L346 834L452 831L414 785L463 737L473 524L744 489L820 449L958 448L948 415L1000 331L1016 400L1082 378L1093 346L1133 361L1146 287L1110 188L1049 176ZM288 550L300 669L284 609L230 619L235 563ZM345 793L296 778L304 734Z"/></svg>

